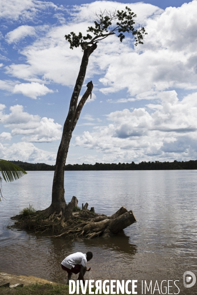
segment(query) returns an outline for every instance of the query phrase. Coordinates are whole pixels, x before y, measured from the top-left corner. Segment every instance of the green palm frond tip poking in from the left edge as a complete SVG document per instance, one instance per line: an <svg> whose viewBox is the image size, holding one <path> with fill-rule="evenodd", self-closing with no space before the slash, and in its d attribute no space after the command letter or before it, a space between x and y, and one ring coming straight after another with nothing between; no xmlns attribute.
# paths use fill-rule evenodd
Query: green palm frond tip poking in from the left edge
<svg viewBox="0 0 197 295"><path fill-rule="evenodd" d="M21 167L2 159L0 159L0 172L6 182L14 181L27 174Z"/></svg>

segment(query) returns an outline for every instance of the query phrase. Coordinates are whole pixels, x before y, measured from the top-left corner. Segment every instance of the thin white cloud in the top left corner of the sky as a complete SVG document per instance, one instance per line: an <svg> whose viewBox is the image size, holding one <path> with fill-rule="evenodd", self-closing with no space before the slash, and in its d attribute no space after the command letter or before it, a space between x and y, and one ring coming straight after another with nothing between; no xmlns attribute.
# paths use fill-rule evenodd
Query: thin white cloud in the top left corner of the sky
<svg viewBox="0 0 197 295"><path fill-rule="evenodd" d="M11 21L33 20L49 8L58 9L53 2L38 0L0 0L0 18Z"/></svg>

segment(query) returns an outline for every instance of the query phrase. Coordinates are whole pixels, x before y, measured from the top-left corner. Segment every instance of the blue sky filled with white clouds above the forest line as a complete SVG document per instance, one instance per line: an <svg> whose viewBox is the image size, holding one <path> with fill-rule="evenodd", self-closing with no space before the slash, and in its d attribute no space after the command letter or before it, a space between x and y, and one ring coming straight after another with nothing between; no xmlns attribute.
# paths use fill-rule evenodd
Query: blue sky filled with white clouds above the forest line
<svg viewBox="0 0 197 295"><path fill-rule="evenodd" d="M197 159L197 0L0 0L0 158L54 165L95 12L129 6L148 33L98 43L67 164Z"/></svg>

